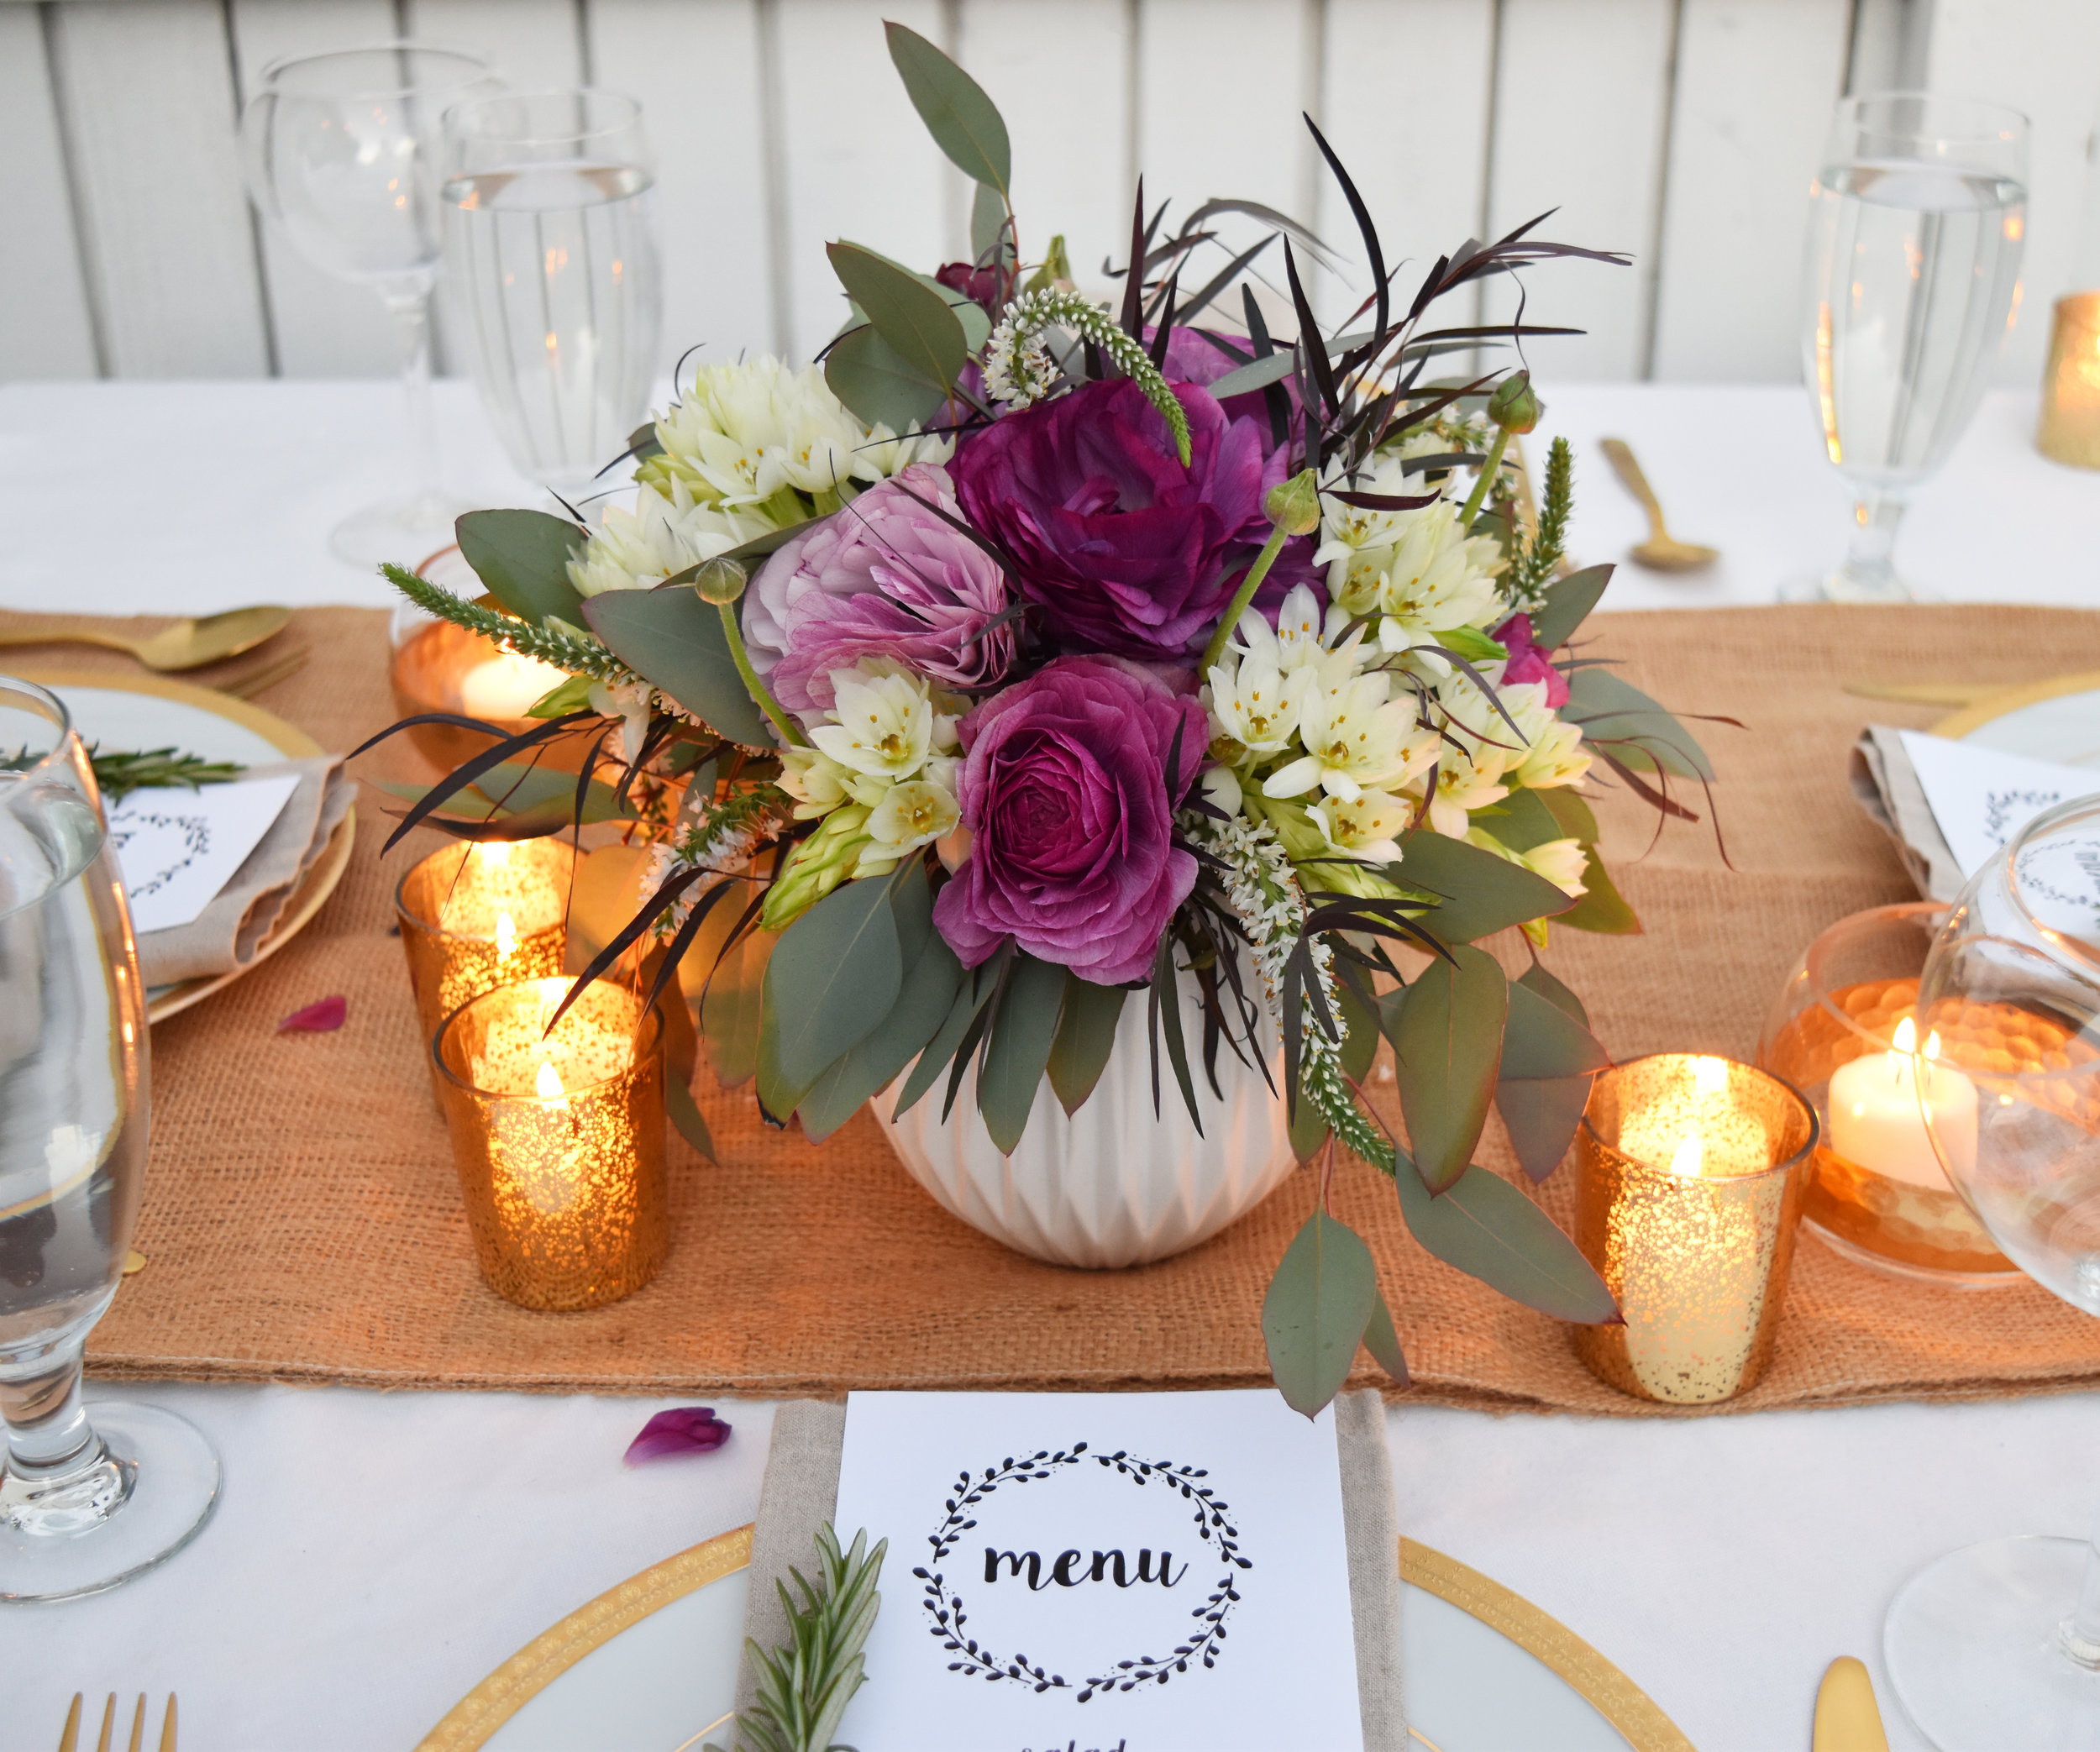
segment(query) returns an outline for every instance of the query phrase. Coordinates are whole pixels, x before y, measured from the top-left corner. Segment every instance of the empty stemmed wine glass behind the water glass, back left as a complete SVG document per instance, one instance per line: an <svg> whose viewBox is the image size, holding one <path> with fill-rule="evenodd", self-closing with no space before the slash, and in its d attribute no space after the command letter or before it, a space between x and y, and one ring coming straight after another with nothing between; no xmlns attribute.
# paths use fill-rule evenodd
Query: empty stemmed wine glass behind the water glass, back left
<svg viewBox="0 0 2100 1752"><path fill-rule="evenodd" d="M384 42L271 61L242 113L250 200L317 269L372 286L401 338L407 494L330 534L355 565L414 565L472 508L439 489L430 422L430 290L443 244L437 160L445 109L498 88L477 55Z"/></svg>

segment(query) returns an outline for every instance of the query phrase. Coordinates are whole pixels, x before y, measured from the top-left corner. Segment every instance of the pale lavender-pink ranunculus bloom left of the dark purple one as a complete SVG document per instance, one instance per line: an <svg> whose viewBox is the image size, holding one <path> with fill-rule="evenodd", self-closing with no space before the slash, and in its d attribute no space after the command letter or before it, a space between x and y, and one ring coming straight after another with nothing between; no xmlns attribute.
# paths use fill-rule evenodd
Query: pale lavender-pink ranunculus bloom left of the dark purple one
<svg viewBox="0 0 2100 1752"><path fill-rule="evenodd" d="M960 515L947 471L916 462L796 531L752 580L743 643L790 712L827 710L832 670L861 658L895 658L949 687L1006 674L1014 626L985 632L1006 607L1000 565L920 500Z"/></svg>

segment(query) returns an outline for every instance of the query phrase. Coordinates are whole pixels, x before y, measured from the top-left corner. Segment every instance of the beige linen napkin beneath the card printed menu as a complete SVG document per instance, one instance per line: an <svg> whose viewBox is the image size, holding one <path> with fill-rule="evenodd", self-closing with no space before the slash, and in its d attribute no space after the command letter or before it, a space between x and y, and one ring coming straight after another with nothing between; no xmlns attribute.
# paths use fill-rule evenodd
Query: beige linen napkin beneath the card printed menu
<svg viewBox="0 0 2100 1752"><path fill-rule="evenodd" d="M1407 1712L1401 1695L1401 1529L1392 1506L1392 1454L1386 1447L1386 1405L1373 1389L1334 1401L1342 1449L1342 1538L1348 1548L1348 1601L1357 1632L1357 1702L1363 1710L1363 1752L1405 1752ZM752 1529L752 1588L743 1634L760 1649L788 1641L788 1613L775 1582L790 1569L804 1576L815 1561L817 1531L838 1506L838 1462L846 1443L842 1399L790 1399L773 1414L773 1447L758 1489ZM850 1531L850 1529L846 1529ZM895 1552L892 1552L895 1561ZM884 1576L888 1601L909 1590ZM888 1605L890 1611L897 1605ZM737 1660L737 1712L756 1699L750 1660Z"/></svg>

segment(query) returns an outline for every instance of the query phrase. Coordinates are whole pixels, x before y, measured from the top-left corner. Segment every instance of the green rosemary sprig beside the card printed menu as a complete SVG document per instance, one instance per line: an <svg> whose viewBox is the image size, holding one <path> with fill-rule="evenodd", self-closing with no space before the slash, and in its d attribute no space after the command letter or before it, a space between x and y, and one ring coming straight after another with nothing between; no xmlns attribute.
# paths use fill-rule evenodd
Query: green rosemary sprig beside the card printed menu
<svg viewBox="0 0 2100 1752"><path fill-rule="evenodd" d="M790 1569L800 1601L775 1582L788 1609L790 1641L773 1653L746 1639L743 1653L758 1674L758 1699L737 1718L737 1752L827 1752L846 1704L867 1678L861 1649L876 1628L882 1594L876 1578L890 1542L867 1550L867 1534L840 1552L830 1523L817 1531L817 1584ZM722 1752L708 1746L706 1752Z"/></svg>

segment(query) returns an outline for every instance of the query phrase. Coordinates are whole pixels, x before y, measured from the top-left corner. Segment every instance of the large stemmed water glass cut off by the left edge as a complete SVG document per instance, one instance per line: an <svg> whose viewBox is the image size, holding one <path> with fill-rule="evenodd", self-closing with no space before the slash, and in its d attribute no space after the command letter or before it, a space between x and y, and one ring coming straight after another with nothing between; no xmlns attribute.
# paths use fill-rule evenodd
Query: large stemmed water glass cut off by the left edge
<svg viewBox="0 0 2100 1752"><path fill-rule="evenodd" d="M218 1458L153 1405L80 1397L147 1145L139 952L65 706L0 676L0 1601L111 1588L181 1550Z"/></svg>

